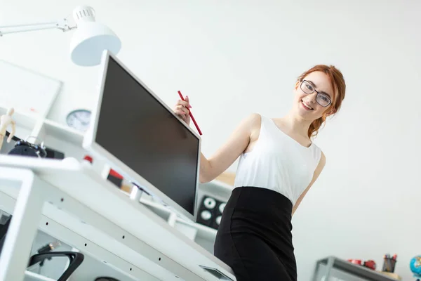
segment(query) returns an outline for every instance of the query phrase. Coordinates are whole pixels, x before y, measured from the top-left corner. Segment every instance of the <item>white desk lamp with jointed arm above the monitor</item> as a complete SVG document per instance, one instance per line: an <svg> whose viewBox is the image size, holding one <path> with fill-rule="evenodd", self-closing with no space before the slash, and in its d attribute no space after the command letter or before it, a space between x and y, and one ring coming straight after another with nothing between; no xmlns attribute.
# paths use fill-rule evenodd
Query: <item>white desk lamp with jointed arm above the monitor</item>
<svg viewBox="0 0 421 281"><path fill-rule="evenodd" d="M27 25L0 26L0 36L8 33L29 32L57 28L63 32L76 31L70 44L73 63L81 66L100 64L105 49L115 55L120 51L121 41L109 27L95 22L95 11L90 6L78 6L73 10L75 26L69 26L67 19L55 22L41 22Z"/></svg>

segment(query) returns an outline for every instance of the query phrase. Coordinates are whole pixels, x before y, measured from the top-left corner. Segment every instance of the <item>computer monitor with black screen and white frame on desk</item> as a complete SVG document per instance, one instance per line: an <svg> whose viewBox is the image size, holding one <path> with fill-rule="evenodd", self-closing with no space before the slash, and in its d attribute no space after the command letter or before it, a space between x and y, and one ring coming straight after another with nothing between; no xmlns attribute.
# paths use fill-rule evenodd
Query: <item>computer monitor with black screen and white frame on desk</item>
<svg viewBox="0 0 421 281"><path fill-rule="evenodd" d="M83 148L196 221L200 136L109 51Z"/></svg>

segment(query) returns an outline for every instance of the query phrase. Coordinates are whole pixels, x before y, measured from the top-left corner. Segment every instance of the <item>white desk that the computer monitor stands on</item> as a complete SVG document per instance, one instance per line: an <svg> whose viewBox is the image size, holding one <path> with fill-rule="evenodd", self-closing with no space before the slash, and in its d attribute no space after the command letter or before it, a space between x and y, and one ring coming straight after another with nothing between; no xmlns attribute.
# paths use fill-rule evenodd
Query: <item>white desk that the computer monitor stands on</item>
<svg viewBox="0 0 421 281"><path fill-rule="evenodd" d="M92 169L0 155L0 209L13 213L0 281L21 281L37 228L133 280L236 280L231 268ZM14 208L14 210L13 210ZM47 225L48 222L48 225Z"/></svg>

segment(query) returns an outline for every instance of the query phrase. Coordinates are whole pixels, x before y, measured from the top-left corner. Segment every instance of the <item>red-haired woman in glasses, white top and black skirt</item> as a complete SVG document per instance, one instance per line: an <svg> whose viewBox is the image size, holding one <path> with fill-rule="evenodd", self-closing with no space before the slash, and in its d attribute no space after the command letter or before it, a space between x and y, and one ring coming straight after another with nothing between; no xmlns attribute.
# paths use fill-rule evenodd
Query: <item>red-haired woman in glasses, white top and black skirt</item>
<svg viewBox="0 0 421 281"><path fill-rule="evenodd" d="M345 88L337 68L316 65L298 77L286 116L252 114L215 155L201 155L201 183L240 157L214 247L237 281L297 280L291 218L326 162L311 139L326 117L338 112ZM187 124L189 107L186 98L173 109Z"/></svg>

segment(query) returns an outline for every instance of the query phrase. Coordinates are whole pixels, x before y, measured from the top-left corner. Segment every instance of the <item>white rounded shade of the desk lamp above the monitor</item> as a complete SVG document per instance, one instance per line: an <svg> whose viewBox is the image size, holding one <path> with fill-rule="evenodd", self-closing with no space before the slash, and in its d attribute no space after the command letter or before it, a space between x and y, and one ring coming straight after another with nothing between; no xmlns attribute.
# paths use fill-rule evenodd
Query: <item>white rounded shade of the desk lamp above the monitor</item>
<svg viewBox="0 0 421 281"><path fill-rule="evenodd" d="M70 44L70 56L73 63L81 66L98 65L102 51L116 55L121 48L121 41L109 27L98 22L79 22Z"/></svg>

